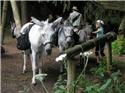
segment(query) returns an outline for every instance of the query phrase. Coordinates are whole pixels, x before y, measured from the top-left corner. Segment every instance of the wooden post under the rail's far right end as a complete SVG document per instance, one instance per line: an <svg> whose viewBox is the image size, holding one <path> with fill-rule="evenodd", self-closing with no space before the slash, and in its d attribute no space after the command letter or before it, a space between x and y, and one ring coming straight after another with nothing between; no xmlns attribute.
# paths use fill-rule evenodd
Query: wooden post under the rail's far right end
<svg viewBox="0 0 125 93"><path fill-rule="evenodd" d="M112 46L111 46L111 41L109 40L108 42L106 42L107 44L107 72L110 73L111 70L111 63L112 63Z"/></svg>

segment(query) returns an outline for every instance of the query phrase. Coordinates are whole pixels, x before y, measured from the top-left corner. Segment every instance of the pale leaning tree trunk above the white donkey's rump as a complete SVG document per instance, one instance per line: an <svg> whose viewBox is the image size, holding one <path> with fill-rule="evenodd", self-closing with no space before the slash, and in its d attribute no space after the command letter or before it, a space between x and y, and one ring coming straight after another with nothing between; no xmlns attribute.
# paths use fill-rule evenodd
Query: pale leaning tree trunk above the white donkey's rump
<svg viewBox="0 0 125 93"><path fill-rule="evenodd" d="M17 4L16 4L15 0L10 0L10 2L11 2L13 16L14 16L14 20L15 20L15 23L16 23L18 36L19 36L19 32L20 32L20 29L21 29L21 20L20 20L20 16L19 16L18 7L17 7Z"/></svg>

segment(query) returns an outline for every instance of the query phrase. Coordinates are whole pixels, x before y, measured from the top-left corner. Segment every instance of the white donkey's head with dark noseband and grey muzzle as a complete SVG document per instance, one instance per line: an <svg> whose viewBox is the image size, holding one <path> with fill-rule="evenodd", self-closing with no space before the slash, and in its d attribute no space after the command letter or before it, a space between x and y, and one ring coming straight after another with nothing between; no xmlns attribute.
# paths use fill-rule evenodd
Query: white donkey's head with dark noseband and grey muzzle
<svg viewBox="0 0 125 93"><path fill-rule="evenodd" d="M59 25L60 21L61 21L61 18L58 18L53 23L48 23L48 20L47 20L43 24L42 40L43 40L43 45L44 45L46 54L51 54L54 35L56 34L55 29Z"/></svg>

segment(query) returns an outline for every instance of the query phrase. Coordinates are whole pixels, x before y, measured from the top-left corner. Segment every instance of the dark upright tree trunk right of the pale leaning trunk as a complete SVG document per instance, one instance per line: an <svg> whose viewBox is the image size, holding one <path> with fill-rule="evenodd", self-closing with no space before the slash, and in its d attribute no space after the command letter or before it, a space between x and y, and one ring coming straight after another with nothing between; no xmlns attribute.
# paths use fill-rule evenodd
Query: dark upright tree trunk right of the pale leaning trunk
<svg viewBox="0 0 125 93"><path fill-rule="evenodd" d="M22 21L22 25L24 25L27 22L26 1L21 1L21 21Z"/></svg>

